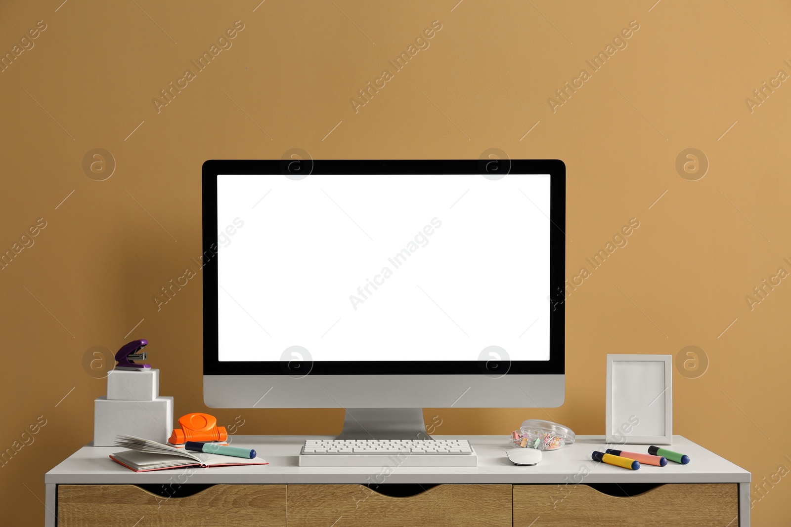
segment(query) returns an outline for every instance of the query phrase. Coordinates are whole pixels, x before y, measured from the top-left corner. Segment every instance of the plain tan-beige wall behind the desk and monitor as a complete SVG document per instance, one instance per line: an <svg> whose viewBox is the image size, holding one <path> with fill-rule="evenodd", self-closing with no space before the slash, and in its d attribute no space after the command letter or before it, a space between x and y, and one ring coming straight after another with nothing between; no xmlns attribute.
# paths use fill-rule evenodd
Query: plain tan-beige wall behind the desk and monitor
<svg viewBox="0 0 791 527"><path fill-rule="evenodd" d="M676 371L674 430L755 481L774 478L753 518L785 523L791 279L753 309L745 295L791 271L791 82L752 108L745 99L791 74L788 3L456 1L2 2L3 54L46 24L0 73L0 250L46 222L0 270L0 448L46 422L0 467L3 524L40 525L44 472L92 438L105 386L83 367L89 348L149 339L176 415L206 410L201 281L161 311L153 295L200 253L202 162L291 148L316 159L499 148L564 160L569 278L630 218L641 222L568 298L566 404L432 409L438 432L506 434L549 417L602 434L607 353L696 345L710 365L698 378ZM233 47L157 111L152 99L235 21ZM433 21L430 47L355 112L350 98ZM585 61L630 21L639 29L627 47L594 73ZM590 78L553 111L547 99L582 69ZM101 182L81 166L95 148L117 165ZM710 163L697 181L676 171L688 148ZM342 420L335 409L215 414L243 416L244 434L333 433Z"/></svg>

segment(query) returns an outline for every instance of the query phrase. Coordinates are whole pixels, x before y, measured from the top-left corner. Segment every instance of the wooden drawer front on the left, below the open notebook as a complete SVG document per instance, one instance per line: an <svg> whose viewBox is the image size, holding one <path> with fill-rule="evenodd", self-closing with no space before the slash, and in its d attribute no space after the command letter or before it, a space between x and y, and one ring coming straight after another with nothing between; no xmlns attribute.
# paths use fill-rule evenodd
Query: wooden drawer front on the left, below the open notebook
<svg viewBox="0 0 791 527"><path fill-rule="evenodd" d="M58 485L58 518L59 527L286 527L286 485L214 485L184 498L134 485Z"/></svg>

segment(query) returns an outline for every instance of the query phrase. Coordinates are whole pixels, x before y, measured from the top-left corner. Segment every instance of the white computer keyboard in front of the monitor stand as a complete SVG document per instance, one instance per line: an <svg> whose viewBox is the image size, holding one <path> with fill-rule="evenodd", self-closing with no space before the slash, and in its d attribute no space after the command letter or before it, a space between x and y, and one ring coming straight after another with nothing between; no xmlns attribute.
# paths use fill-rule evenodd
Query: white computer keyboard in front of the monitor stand
<svg viewBox="0 0 791 527"><path fill-rule="evenodd" d="M467 439L308 439L301 467L474 467Z"/></svg>

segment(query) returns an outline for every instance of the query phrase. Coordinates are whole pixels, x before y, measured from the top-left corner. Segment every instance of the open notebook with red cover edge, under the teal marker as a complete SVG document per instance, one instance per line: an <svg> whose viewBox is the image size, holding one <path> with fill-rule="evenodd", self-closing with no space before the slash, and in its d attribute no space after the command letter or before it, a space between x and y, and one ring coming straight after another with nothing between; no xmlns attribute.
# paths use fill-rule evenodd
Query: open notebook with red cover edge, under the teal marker
<svg viewBox="0 0 791 527"><path fill-rule="evenodd" d="M247 460L242 457L191 452L190 450L179 449L161 442L136 438L134 435L117 435L115 437L115 446L123 446L131 450L110 454L110 459L127 467L127 469L134 470L134 472L184 469L186 467L209 468L232 465L268 465L267 461L260 457Z"/></svg>

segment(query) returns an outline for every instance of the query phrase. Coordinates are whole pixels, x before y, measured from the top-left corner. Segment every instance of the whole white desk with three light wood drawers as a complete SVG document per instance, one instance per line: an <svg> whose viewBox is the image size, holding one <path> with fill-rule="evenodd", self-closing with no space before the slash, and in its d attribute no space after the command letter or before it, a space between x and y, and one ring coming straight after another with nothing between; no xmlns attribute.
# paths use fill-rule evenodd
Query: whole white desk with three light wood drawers
<svg viewBox="0 0 791 527"><path fill-rule="evenodd" d="M504 436L467 436L478 466L389 471L300 467L306 439L234 439L270 465L142 474L109 461L112 447L85 446L47 472L45 525L750 527L750 472L679 435L673 450L690 464L638 471L592 461L600 435L577 435L536 467L508 461Z"/></svg>

